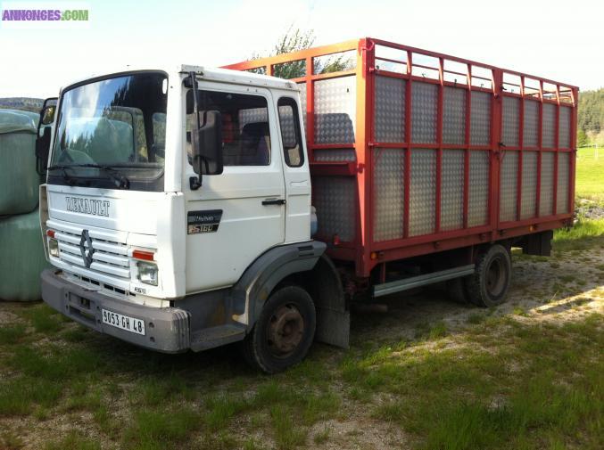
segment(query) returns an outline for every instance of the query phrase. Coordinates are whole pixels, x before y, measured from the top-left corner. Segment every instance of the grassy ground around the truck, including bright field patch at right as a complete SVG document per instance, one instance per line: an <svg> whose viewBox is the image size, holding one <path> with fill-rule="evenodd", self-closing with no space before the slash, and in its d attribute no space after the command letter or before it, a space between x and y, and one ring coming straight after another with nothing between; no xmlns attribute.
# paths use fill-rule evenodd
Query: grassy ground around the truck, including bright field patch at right
<svg viewBox="0 0 604 450"><path fill-rule="evenodd" d="M603 168L579 151L578 196L604 198ZM349 350L315 344L276 376L236 347L160 355L0 303L0 450L600 450L604 221L513 258L501 307L393 297L352 316Z"/></svg>

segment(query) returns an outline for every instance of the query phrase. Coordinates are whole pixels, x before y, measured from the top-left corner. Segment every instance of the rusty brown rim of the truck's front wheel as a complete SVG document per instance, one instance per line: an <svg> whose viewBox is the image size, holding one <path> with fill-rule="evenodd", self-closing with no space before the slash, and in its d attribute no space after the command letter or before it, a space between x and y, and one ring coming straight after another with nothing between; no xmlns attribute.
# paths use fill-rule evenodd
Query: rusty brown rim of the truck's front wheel
<svg viewBox="0 0 604 450"><path fill-rule="evenodd" d="M277 357L287 357L294 353L302 342L304 319L297 307L287 304L279 307L269 319L269 351Z"/></svg>

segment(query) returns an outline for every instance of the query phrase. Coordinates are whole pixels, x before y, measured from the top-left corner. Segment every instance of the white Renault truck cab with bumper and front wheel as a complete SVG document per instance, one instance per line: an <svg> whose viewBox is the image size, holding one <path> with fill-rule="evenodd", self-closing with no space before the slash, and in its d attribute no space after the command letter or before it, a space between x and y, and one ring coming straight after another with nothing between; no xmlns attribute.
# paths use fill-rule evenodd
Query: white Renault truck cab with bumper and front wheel
<svg viewBox="0 0 604 450"><path fill-rule="evenodd" d="M294 83L234 70L128 68L64 87L37 147L43 299L162 352L243 340L266 372L302 360L315 334L347 345L339 276L310 236L304 113Z"/></svg>

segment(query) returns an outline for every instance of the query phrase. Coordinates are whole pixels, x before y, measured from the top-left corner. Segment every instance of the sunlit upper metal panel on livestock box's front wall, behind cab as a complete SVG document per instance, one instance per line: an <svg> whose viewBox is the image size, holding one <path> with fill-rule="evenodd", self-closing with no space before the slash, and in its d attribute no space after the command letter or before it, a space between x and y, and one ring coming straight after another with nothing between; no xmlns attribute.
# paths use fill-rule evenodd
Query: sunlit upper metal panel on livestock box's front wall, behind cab
<svg viewBox="0 0 604 450"><path fill-rule="evenodd" d="M315 82L315 143L354 143L356 78Z"/></svg>

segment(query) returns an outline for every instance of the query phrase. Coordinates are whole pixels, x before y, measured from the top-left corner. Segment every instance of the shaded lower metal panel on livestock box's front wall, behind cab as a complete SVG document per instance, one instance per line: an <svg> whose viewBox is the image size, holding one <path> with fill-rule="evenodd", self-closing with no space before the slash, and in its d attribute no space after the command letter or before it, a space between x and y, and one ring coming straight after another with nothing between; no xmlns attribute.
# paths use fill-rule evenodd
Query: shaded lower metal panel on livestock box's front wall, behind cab
<svg viewBox="0 0 604 450"><path fill-rule="evenodd" d="M352 241L355 231L355 179L353 176L315 176L312 178L319 222L319 236Z"/></svg>

